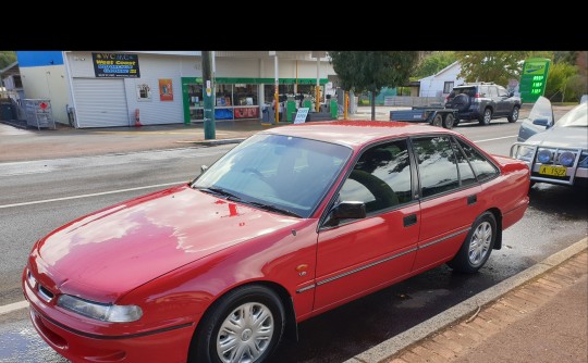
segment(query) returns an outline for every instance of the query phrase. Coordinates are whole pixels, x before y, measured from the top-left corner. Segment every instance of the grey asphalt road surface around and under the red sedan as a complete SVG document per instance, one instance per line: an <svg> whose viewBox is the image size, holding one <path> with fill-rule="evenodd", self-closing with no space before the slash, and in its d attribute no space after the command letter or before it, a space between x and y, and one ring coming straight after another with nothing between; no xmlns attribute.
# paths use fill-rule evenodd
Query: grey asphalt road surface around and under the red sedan
<svg viewBox="0 0 588 363"><path fill-rule="evenodd" d="M455 130L509 154L518 123L462 124ZM187 182L232 145L0 164L0 306L22 301L20 275L34 241L79 215ZM534 265L587 235L586 191L537 185L525 218L474 276L445 266L304 322L274 362L342 362ZM58 199L47 201L49 199ZM65 362L34 333L26 311L0 315L0 362Z"/></svg>

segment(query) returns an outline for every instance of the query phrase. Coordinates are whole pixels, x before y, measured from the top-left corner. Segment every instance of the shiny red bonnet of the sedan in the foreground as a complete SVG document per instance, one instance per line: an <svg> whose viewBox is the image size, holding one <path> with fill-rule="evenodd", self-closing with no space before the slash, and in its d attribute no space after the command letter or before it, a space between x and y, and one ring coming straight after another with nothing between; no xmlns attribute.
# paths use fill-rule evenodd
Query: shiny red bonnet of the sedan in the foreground
<svg viewBox="0 0 588 363"><path fill-rule="evenodd" d="M118 297L299 218L170 188L76 220L39 240L30 264L62 292ZM40 260L39 260L40 259Z"/></svg>

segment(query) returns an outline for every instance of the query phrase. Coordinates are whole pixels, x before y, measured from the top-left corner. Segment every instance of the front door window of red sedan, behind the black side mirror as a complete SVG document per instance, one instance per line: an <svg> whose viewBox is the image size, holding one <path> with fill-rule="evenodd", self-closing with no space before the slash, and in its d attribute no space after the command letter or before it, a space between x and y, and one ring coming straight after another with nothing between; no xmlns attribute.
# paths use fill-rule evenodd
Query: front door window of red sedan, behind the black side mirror
<svg viewBox="0 0 588 363"><path fill-rule="evenodd" d="M406 140L366 150L343 184L340 199L364 202L368 214L411 201L411 160Z"/></svg>

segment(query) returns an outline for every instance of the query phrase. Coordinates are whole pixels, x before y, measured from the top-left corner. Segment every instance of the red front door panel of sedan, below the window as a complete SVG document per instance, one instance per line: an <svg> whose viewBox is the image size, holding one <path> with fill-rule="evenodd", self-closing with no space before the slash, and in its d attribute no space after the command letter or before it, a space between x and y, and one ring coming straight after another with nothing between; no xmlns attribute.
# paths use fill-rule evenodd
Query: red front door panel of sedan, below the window
<svg viewBox="0 0 588 363"><path fill-rule="evenodd" d="M404 226L404 218L416 223ZM375 215L319 233L315 309L400 280L413 268L419 205Z"/></svg>

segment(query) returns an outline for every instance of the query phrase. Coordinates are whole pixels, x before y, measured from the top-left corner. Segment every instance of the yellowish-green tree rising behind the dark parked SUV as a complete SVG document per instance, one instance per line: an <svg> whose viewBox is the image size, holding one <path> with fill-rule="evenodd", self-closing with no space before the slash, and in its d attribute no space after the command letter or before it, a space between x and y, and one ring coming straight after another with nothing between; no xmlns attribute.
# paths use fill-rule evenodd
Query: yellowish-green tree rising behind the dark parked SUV
<svg viewBox="0 0 588 363"><path fill-rule="evenodd" d="M457 76L465 82L493 82L507 85L518 79L523 62L529 51L456 51L462 71Z"/></svg>

